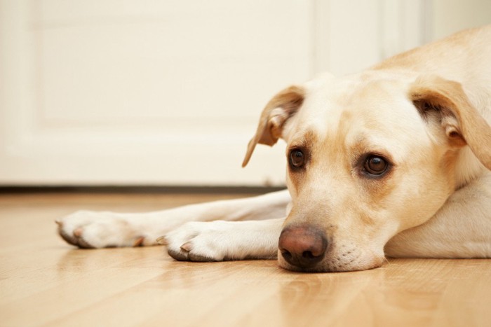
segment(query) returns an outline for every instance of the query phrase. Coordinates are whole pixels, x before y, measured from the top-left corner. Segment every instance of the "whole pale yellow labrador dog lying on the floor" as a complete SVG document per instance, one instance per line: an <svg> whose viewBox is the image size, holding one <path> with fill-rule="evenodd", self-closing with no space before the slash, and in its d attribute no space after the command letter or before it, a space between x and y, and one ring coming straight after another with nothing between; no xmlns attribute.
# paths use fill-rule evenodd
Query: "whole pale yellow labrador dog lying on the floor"
<svg viewBox="0 0 491 327"><path fill-rule="evenodd" d="M490 258L490 121L484 27L274 96L243 165L256 144L284 139L288 191L148 214L79 211L59 232L82 248L161 243L177 260L277 256L306 272L375 268L385 256Z"/></svg>

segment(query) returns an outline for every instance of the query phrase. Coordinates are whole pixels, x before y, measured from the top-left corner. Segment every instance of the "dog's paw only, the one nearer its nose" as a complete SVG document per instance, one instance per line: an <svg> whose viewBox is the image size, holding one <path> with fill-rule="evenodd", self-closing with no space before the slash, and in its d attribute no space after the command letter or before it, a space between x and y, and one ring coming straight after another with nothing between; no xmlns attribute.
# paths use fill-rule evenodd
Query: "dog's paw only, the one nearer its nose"
<svg viewBox="0 0 491 327"><path fill-rule="evenodd" d="M169 256L180 261L210 262L229 260L231 244L226 221L190 222L160 237Z"/></svg>

